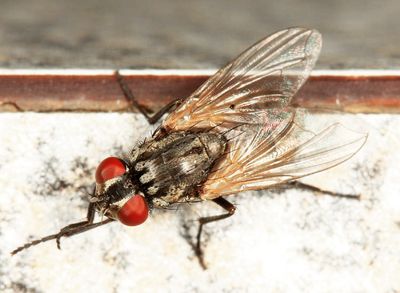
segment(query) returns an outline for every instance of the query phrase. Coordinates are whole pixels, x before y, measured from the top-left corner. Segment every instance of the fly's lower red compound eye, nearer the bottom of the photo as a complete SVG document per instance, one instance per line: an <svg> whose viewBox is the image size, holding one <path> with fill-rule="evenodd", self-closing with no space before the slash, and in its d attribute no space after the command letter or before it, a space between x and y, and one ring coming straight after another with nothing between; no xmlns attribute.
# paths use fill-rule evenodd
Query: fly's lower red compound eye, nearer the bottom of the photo
<svg viewBox="0 0 400 293"><path fill-rule="evenodd" d="M136 194L118 211L118 219L127 226L137 226L146 221L149 208L143 196Z"/></svg>

